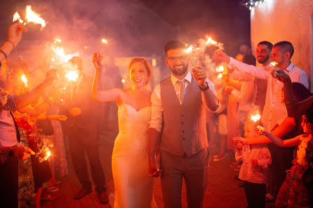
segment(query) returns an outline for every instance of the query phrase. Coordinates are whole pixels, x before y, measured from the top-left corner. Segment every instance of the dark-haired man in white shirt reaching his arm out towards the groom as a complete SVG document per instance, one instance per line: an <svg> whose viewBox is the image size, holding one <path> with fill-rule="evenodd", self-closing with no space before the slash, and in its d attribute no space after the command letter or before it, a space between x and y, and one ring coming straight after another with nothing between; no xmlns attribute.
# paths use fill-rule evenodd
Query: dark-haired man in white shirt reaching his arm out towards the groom
<svg viewBox="0 0 313 208"><path fill-rule="evenodd" d="M272 48L272 61L276 62L276 67L283 69L291 77L292 82L302 83L306 88L309 87L307 74L302 69L295 67L291 62L293 56L293 45L288 41L281 41L276 43ZM227 67L237 69L238 71L251 74L255 78L267 79L267 94L265 99L265 106L262 113L262 125L267 130L272 130L279 125L287 113L282 102L281 92L283 90L283 83L272 76L272 71L275 67L269 64L264 66L253 66L244 64L229 57L222 50L217 50L215 56L223 62L227 62Z"/></svg>

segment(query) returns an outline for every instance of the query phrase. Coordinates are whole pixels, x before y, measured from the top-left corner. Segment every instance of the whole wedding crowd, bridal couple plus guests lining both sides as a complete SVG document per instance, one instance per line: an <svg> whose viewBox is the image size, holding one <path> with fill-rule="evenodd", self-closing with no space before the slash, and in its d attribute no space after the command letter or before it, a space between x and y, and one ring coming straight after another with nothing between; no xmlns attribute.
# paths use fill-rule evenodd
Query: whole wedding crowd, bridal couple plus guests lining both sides
<svg viewBox="0 0 313 208"><path fill-rule="evenodd" d="M201 207L208 183L208 144L215 143L219 152L213 162L232 158L248 207L265 207L266 201L276 201L277 207L312 207L313 99L307 74L291 62L290 42L262 41L256 59L248 44L236 58L216 50L213 60L224 69L217 77L200 66L189 71L185 43L169 41L164 50L171 77L153 91L152 67L142 57L129 64L130 88L121 88L120 82L103 86L102 77L111 69L97 52L93 80L82 72L81 58L73 57L68 64L79 72L76 83L55 88L58 75L51 69L41 84L26 91L15 82L20 69L10 74L6 62L23 32L27 29L14 22L0 46L0 202L5 207L18 207L18 160L29 156L34 206L60 197L55 194L57 179L67 174L64 138L81 183L74 199L92 192L89 163L99 200L108 202L98 151L99 120L105 116L99 113L100 102L118 106L114 207L156 207L153 177L160 175L165 207L181 207L182 179L189 206ZM251 120L256 113L260 120ZM48 159L50 150L58 157Z"/></svg>

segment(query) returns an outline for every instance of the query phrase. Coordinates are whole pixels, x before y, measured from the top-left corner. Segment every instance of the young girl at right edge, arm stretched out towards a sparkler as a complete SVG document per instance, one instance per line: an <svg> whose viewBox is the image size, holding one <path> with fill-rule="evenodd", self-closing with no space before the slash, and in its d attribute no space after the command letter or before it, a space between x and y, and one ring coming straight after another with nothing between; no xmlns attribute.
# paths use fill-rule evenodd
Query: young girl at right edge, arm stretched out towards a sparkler
<svg viewBox="0 0 313 208"><path fill-rule="evenodd" d="M302 116L301 125L304 134L287 140L275 137L264 130L264 128L259 127L259 131L271 139L277 146L298 146L296 158L293 160L293 167L286 171L286 179L279 189L275 203L276 207L309 207L307 188L303 185L301 176L309 166L305 156L305 149L307 146L312 146L313 143L313 108L305 116Z"/></svg>

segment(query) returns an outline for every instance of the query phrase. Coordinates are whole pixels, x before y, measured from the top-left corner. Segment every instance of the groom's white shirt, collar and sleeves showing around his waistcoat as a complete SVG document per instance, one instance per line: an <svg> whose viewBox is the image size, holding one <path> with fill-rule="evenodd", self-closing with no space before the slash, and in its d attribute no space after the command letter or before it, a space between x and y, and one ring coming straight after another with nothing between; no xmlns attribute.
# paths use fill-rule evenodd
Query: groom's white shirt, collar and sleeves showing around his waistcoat
<svg viewBox="0 0 313 208"><path fill-rule="evenodd" d="M171 74L171 82L174 86L174 90L176 92L177 97L180 97L180 85L176 84L178 81L184 81L185 83L185 89L187 89L187 86L192 82L192 74L190 71L186 74L185 78L182 78L182 80L178 79L177 77L173 76ZM216 95L216 91L214 88L214 84L206 78L206 82L208 83L208 88L212 90L212 92ZM202 97L202 100L204 98ZM150 128L153 128L154 130L161 132L162 125L163 125L163 106L161 102L161 88L160 83L157 84L152 92L151 95L151 102L152 102L152 108L151 108L151 120L150 120ZM207 108L208 109L208 108Z"/></svg>

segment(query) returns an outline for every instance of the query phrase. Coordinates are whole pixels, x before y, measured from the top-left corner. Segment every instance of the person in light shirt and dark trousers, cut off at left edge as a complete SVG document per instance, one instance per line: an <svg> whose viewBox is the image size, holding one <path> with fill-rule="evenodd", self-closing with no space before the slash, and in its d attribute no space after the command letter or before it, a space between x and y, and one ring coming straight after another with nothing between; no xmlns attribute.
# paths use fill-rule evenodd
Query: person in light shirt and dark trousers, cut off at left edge
<svg viewBox="0 0 313 208"><path fill-rule="evenodd" d="M5 88L6 74L2 69L0 69L0 72L0 84ZM15 111L34 102L39 96L44 94L44 90L46 90L55 79L56 72L51 69L51 71L48 71L44 83L41 83L33 90L18 96L2 94L2 96L6 97L6 99L2 99L6 101L6 104L0 109L0 146L10 146L14 148L18 144L18 141L20 141L20 133L18 132L18 127L11 111ZM28 148L19 148L19 150L24 150L26 156L30 153L34 153L33 151L29 151ZM17 158L11 158L0 166L0 180L2 184L0 186L1 205L4 205L4 207L18 207Z"/></svg>

